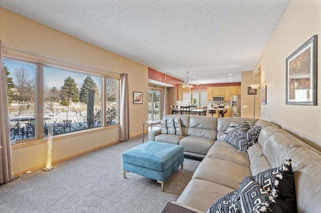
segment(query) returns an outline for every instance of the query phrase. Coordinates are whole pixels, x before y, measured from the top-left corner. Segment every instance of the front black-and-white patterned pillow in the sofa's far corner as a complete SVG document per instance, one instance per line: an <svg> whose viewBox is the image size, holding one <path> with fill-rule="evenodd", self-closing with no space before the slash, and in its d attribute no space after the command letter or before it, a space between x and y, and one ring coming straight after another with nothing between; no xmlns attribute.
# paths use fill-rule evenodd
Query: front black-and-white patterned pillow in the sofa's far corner
<svg viewBox="0 0 321 213"><path fill-rule="evenodd" d="M244 132L242 129L238 129L232 137L229 138L229 143L233 144L237 149L241 151L247 151L247 149L253 145L259 136L261 126L256 125Z"/></svg>

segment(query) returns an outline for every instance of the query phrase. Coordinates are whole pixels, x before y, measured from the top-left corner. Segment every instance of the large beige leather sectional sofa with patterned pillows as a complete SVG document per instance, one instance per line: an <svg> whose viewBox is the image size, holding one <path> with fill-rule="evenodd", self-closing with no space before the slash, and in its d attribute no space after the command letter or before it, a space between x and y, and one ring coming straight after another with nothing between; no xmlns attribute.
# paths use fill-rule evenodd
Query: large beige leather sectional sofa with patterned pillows
<svg viewBox="0 0 321 213"><path fill-rule="evenodd" d="M244 176L292 160L297 212L321 209L321 152L271 122L242 117L206 117L168 114L163 119L180 118L184 135L150 131L149 140L181 144L184 153L203 158L192 180L174 203L205 212L221 196L237 189ZM247 120L260 125L257 142L247 152L218 138L231 122ZM292 206L293 207L293 206Z"/></svg>

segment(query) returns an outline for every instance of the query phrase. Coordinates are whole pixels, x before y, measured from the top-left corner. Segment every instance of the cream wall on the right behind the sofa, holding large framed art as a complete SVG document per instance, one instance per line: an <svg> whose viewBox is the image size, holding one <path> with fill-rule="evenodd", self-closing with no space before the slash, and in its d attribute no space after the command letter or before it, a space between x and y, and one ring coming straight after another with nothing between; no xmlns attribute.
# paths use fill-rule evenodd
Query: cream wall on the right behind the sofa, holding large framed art
<svg viewBox="0 0 321 213"><path fill-rule="evenodd" d="M318 105L285 104L285 60L315 34L318 34ZM319 150L321 150L320 39L321 1L291 0L254 68L257 70L257 67L261 66L261 84L267 85L267 104L261 106L262 119L279 124Z"/></svg>

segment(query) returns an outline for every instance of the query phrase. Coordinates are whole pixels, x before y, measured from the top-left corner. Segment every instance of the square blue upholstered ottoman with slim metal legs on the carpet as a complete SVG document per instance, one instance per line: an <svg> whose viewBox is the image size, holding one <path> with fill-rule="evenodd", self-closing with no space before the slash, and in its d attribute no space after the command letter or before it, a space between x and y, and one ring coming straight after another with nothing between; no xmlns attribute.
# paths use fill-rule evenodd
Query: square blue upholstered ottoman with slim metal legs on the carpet
<svg viewBox="0 0 321 213"><path fill-rule="evenodd" d="M177 169L183 169L184 153L182 145L147 141L122 153L124 178L130 171L155 179L162 184Z"/></svg>

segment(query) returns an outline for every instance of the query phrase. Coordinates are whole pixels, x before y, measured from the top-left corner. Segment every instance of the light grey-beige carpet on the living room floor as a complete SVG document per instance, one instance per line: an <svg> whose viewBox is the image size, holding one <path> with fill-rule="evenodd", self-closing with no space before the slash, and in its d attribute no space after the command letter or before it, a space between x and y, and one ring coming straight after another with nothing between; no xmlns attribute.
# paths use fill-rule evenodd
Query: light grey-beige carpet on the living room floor
<svg viewBox="0 0 321 213"><path fill-rule="evenodd" d="M200 161L185 158L184 169L178 167L161 192L156 180L131 172L123 178L121 154L140 143L136 136L1 184L0 212L162 212L178 199Z"/></svg>

